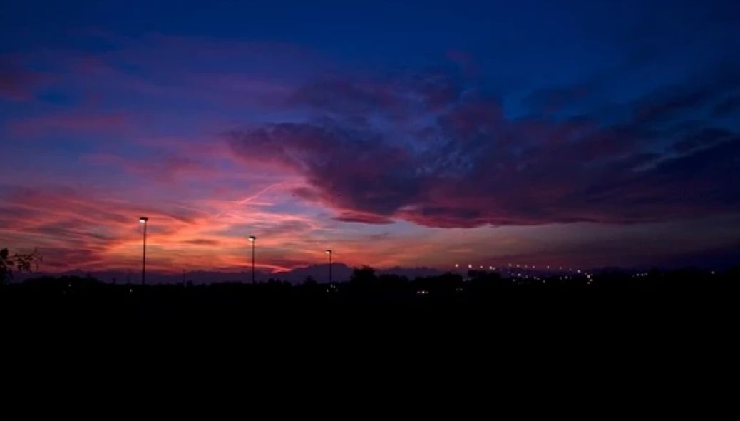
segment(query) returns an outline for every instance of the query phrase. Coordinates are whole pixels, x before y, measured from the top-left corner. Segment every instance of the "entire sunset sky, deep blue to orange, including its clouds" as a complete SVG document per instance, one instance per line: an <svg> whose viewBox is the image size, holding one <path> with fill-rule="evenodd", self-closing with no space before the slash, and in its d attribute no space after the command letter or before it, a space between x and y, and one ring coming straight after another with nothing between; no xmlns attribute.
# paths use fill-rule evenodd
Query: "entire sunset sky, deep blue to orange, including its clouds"
<svg viewBox="0 0 740 421"><path fill-rule="evenodd" d="M3 1L45 271L740 257L737 1Z"/></svg>

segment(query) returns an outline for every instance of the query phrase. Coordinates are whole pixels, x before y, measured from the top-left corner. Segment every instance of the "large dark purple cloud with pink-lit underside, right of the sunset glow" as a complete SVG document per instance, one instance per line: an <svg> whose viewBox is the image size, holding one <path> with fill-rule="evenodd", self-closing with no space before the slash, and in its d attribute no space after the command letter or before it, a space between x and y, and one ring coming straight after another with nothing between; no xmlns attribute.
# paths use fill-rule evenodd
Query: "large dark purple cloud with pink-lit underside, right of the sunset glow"
<svg viewBox="0 0 740 421"><path fill-rule="evenodd" d="M295 96L317 119L252 127L230 142L242 159L303 176L298 195L349 222L474 227L723 213L740 205L740 137L711 118L718 107L737 116L724 105L740 88L733 74L656 90L623 105L616 122L512 119L495 99L440 76L322 82ZM532 101L582 94L563 88Z"/></svg>

